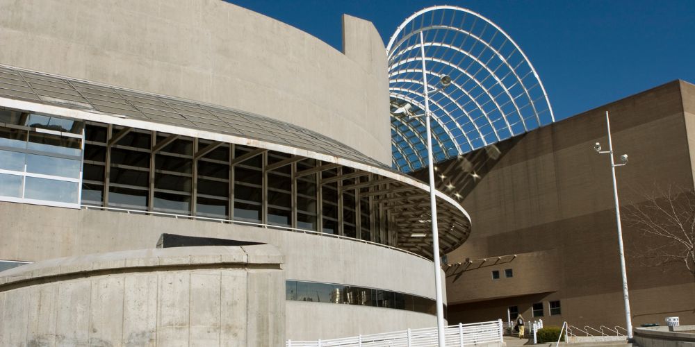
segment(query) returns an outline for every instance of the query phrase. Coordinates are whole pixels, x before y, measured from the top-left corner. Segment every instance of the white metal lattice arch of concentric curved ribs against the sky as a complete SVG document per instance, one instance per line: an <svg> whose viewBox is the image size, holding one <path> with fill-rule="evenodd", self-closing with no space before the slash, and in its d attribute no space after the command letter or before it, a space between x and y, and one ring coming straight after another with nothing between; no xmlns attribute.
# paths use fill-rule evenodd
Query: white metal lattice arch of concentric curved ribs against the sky
<svg viewBox="0 0 695 347"><path fill-rule="evenodd" d="M424 113L421 46L434 162L555 121L537 71L502 28L466 8L425 8L398 26L386 47L395 169L409 172L427 165L424 118L393 115L406 104L411 114ZM442 76L451 78L447 87L439 85Z"/></svg>

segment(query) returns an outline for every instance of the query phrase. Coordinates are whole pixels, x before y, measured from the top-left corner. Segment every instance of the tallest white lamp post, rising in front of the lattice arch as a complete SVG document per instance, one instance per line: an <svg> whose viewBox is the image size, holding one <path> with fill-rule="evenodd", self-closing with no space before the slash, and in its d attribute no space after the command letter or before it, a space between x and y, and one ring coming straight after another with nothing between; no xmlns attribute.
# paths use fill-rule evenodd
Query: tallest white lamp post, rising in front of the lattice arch
<svg viewBox="0 0 695 347"><path fill-rule="evenodd" d="M434 248L434 291L436 291L436 336L439 347L444 341L444 309L441 294L441 264L439 264L439 230L436 226L436 199L434 197L434 164L432 160L432 129L430 128L430 91L427 87L427 67L425 66L425 38L420 31L420 53L423 58L423 89L425 90L425 126L427 127L427 169L430 171L430 209L432 219L432 248Z"/></svg>

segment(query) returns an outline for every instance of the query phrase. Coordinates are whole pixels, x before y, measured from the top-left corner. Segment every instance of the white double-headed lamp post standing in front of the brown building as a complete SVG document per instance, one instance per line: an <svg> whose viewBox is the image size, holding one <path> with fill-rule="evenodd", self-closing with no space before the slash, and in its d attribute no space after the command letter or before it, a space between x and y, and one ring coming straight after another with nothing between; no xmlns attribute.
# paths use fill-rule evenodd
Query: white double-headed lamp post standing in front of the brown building
<svg viewBox="0 0 695 347"><path fill-rule="evenodd" d="M596 142L594 149L599 154L609 154L610 169L613 177L613 198L615 201L615 221L618 225L618 248L620 253L620 273L623 278L623 300L625 301L625 320L628 330L628 340L632 339L632 318L630 317L630 297L628 296L628 276L625 270L625 251L623 250L623 228L620 223L620 204L618 203L618 187L615 180L615 168L622 167L628 164L628 155L620 156L621 164L616 164L613 157L613 143L610 137L610 121L608 119L608 111L606 111L606 128L608 130L608 151L601 151L601 145Z"/></svg>

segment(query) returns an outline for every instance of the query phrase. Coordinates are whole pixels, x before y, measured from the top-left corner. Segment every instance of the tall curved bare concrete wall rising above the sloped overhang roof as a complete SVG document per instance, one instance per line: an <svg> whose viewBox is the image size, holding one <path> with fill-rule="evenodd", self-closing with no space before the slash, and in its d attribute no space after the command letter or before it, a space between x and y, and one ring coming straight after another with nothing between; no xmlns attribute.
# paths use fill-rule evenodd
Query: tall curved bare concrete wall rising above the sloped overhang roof
<svg viewBox="0 0 695 347"><path fill-rule="evenodd" d="M345 54L218 0L0 0L0 64L258 113L390 165L384 44L343 26Z"/></svg>

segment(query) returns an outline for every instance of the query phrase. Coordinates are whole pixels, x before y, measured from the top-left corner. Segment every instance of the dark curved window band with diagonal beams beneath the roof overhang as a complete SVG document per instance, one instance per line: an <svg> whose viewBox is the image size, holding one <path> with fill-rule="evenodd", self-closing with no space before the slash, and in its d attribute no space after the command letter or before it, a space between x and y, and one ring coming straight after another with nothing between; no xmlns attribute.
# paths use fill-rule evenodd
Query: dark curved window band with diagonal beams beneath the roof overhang
<svg viewBox="0 0 695 347"><path fill-rule="evenodd" d="M375 198L380 187L370 184L376 177L349 167L95 122L85 124L84 142L84 205L233 219L393 244L387 242L384 206Z"/></svg>

